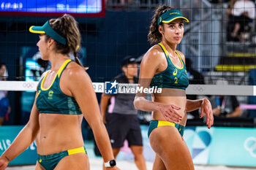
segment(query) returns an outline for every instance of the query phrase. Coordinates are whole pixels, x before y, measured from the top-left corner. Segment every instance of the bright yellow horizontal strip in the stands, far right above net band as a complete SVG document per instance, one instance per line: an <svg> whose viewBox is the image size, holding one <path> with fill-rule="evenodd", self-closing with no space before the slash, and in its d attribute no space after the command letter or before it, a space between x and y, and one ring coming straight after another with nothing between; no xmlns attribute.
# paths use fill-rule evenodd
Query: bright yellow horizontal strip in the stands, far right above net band
<svg viewBox="0 0 256 170"><path fill-rule="evenodd" d="M256 69L256 65L217 65L215 69L221 72L248 72L249 69Z"/></svg>

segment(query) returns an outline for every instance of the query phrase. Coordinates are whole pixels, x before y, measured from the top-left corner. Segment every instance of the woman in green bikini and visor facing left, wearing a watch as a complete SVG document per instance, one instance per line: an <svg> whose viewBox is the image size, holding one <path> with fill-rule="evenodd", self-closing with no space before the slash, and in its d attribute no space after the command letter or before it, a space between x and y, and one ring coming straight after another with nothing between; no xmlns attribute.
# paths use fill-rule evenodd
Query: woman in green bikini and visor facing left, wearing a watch
<svg viewBox="0 0 256 170"><path fill-rule="evenodd" d="M29 123L1 155L0 169L5 169L34 139L36 169L89 169L81 134L83 117L94 132L107 169L118 169L91 79L76 55L80 46L77 22L64 15L43 26L31 26L29 31L39 34L41 58L50 61L51 69L39 81ZM74 53L75 62L69 59L70 52Z"/></svg>

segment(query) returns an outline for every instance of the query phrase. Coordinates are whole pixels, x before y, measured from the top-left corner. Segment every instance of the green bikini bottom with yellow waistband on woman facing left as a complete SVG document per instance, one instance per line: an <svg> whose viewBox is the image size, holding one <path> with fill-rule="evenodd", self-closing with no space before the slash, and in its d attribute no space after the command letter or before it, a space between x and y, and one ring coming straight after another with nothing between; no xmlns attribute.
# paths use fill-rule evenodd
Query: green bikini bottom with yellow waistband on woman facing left
<svg viewBox="0 0 256 170"><path fill-rule="evenodd" d="M37 161L45 170L53 170L56 168L56 166L58 165L59 161L61 161L62 158L68 155L76 154L76 153L86 153L86 148L78 147L72 150L66 150L66 151L54 153L51 155L37 155L37 158L38 158Z"/></svg>

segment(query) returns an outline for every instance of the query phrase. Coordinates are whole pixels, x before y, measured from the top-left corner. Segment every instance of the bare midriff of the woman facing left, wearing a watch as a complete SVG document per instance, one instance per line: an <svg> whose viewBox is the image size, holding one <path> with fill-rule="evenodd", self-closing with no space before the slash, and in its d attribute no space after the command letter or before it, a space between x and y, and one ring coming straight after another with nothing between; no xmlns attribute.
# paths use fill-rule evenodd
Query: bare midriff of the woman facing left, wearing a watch
<svg viewBox="0 0 256 170"><path fill-rule="evenodd" d="M50 155L83 147L82 120L83 115L39 114L38 154Z"/></svg>

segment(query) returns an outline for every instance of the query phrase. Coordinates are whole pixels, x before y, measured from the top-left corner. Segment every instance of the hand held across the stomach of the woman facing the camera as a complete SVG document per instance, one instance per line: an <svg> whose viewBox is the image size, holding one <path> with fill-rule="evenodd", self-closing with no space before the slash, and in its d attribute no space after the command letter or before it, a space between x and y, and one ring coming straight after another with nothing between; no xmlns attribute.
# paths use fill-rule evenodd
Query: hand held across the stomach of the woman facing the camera
<svg viewBox="0 0 256 170"><path fill-rule="evenodd" d="M179 115L176 110L180 110L180 107L176 107L173 104L161 104L158 106L159 112L165 117L165 120L171 123L178 123L181 120L181 115Z"/></svg>

